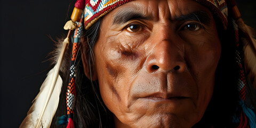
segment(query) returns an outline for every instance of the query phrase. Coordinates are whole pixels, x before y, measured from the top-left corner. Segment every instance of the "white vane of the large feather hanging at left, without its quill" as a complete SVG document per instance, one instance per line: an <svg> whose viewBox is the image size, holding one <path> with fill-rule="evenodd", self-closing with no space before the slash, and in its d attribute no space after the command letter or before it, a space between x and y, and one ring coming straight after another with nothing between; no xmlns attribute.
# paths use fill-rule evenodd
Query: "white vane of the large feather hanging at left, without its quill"
<svg viewBox="0 0 256 128"><path fill-rule="evenodd" d="M47 94L50 91L51 82L53 81L52 79L53 79L54 71L56 68L57 66L55 66L53 69L49 71L44 83L40 88L40 92L37 94L36 98L34 99L33 101L34 103L30 107L27 113L27 116L21 123L20 127L36 127L40 114L43 111ZM55 112L58 108L61 86L62 86L62 79L59 75L57 82L55 84L55 87L53 89L53 92L51 94L50 100L47 103L47 106L45 108L39 127L50 127L52 118L55 115Z"/></svg>

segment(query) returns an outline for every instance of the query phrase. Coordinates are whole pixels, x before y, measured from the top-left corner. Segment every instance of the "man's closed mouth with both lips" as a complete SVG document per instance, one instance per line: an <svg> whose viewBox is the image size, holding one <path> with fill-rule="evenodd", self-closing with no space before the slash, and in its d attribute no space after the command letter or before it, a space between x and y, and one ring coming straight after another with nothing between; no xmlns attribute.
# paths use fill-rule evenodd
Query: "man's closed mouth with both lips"
<svg viewBox="0 0 256 128"><path fill-rule="evenodd" d="M157 114L176 113L193 106L190 95L178 92L155 92L143 93L135 98L132 106L148 111L155 111Z"/></svg>

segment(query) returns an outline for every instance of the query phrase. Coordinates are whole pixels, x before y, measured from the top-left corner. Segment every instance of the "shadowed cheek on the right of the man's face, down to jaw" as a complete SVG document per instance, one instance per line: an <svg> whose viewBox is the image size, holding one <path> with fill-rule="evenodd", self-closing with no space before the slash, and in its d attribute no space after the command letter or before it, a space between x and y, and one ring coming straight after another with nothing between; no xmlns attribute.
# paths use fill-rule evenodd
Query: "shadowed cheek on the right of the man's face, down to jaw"
<svg viewBox="0 0 256 128"><path fill-rule="evenodd" d="M198 88L198 109L205 109L212 97L221 45L217 32L198 36L193 41L196 45L187 46L185 59Z"/></svg>

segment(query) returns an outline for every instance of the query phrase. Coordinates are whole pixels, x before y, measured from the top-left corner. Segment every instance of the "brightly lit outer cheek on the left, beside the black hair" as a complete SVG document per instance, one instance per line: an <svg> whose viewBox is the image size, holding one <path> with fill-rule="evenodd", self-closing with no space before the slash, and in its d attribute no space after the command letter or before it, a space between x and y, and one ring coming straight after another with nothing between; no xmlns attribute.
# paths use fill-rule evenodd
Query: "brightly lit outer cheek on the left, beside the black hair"
<svg viewBox="0 0 256 128"><path fill-rule="evenodd" d="M115 52L109 52L106 46L95 45L94 48L101 98L111 111L111 109L116 109L116 105L118 105L118 102L121 100L120 94L122 93L119 92L119 86L116 85L118 79L121 77L121 74L118 73L122 72L122 68L119 68L118 65L113 65L113 62L109 59L113 58Z"/></svg>

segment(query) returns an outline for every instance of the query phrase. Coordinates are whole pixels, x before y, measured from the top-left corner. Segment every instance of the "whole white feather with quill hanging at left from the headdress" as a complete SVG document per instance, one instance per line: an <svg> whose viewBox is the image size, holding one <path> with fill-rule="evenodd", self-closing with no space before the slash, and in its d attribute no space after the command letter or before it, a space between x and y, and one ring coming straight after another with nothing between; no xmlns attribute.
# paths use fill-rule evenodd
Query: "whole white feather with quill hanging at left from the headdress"
<svg viewBox="0 0 256 128"><path fill-rule="evenodd" d="M27 116L20 125L22 127L50 127L59 104L59 97L62 87L62 79L59 75L61 63L69 44L68 32L67 38L63 41L63 46L58 58L57 64L51 69L41 85L40 92L37 94L30 107Z"/></svg>

